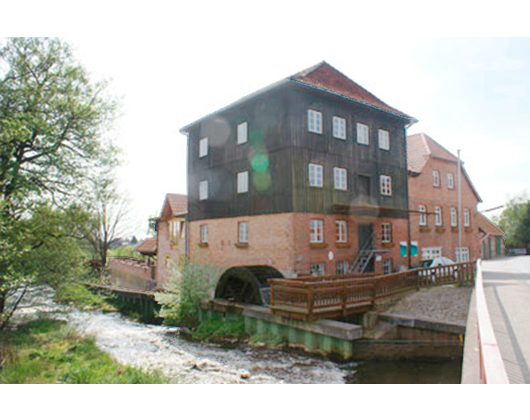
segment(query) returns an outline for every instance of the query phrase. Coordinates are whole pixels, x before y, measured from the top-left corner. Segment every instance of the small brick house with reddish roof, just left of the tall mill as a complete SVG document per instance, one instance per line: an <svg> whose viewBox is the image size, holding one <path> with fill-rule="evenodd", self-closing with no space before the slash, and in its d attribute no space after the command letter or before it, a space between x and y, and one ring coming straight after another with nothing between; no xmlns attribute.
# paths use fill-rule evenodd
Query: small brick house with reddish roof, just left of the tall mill
<svg viewBox="0 0 530 420"><path fill-rule="evenodd" d="M182 194L167 194L156 223L156 287L168 280L172 263L186 255L186 216L188 197Z"/></svg>

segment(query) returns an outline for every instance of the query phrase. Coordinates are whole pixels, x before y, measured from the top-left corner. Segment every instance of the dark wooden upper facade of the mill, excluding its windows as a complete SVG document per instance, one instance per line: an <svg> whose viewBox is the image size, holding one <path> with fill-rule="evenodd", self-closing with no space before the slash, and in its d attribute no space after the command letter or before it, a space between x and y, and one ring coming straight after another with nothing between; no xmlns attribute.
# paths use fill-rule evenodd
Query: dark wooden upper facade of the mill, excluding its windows
<svg viewBox="0 0 530 420"><path fill-rule="evenodd" d="M308 109L322 112L322 134L308 130ZM333 116L346 119L346 140L333 137ZM237 125L248 142L237 144ZM369 145L356 124L370 127ZM188 134L190 221L275 213L362 214L407 217L405 126L410 120L344 96L286 79L182 129ZM390 133L390 150L378 146ZM208 156L199 141L208 137ZM324 186L309 186L308 165L324 167ZM348 170L348 190L334 188L334 168ZM249 172L249 192L237 193L237 173ZM380 194L379 176L392 177L392 196ZM209 198L199 200L199 183ZM375 213L374 213L375 212Z"/></svg>

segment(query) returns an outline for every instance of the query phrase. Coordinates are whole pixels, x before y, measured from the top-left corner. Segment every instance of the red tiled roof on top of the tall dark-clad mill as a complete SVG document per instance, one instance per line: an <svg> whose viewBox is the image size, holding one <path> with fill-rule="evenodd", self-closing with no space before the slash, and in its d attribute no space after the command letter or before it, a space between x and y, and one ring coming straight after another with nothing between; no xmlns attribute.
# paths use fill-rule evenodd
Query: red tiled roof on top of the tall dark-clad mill
<svg viewBox="0 0 530 420"><path fill-rule="evenodd" d="M372 93L368 92L359 84L342 74L337 69L330 66L325 61L303 70L290 77L291 80L299 81L313 87L345 96L365 105L389 111L400 117L413 120L412 117L387 105Z"/></svg>

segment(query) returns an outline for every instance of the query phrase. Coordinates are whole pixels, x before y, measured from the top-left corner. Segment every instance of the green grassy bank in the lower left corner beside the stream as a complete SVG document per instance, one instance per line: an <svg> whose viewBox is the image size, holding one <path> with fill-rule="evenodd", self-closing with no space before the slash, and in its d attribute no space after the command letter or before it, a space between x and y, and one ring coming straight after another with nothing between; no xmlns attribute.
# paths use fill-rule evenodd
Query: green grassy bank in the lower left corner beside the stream
<svg viewBox="0 0 530 420"><path fill-rule="evenodd" d="M123 366L64 322L40 319L9 333L11 358L0 384L159 384L167 380Z"/></svg>

